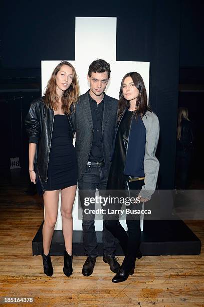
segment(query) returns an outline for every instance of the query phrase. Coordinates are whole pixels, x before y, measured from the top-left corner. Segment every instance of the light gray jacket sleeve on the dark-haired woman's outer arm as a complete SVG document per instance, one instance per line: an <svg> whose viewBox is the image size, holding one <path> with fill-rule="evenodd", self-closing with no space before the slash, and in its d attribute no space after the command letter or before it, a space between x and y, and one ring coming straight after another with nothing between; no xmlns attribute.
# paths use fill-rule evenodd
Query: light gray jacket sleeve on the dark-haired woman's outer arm
<svg viewBox="0 0 204 307"><path fill-rule="evenodd" d="M143 117L146 128L146 144L144 155L144 186L139 195L150 199L156 188L156 182L159 171L159 162L155 157L156 147L159 139L159 120L152 112Z"/></svg>

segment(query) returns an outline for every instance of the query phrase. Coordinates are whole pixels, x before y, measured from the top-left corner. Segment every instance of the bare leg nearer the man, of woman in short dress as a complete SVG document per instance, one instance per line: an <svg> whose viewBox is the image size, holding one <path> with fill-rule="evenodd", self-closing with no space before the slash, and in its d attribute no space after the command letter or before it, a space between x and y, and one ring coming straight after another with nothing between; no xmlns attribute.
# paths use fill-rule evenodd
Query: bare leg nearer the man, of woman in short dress
<svg viewBox="0 0 204 307"><path fill-rule="evenodd" d="M72 208L75 200L77 186L71 186L61 190L61 215L62 231L65 240L65 248L72 255L73 218Z"/></svg>

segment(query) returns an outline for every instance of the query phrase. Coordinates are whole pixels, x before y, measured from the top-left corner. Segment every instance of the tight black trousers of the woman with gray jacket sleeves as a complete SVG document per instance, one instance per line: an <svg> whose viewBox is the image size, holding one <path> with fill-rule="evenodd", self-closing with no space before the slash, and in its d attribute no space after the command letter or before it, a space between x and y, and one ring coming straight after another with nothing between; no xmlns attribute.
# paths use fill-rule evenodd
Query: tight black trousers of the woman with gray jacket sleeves
<svg viewBox="0 0 204 307"><path fill-rule="evenodd" d="M137 197L138 192L141 190L141 187L144 185L144 180L135 181L134 183L129 184L129 188L131 189L130 194L131 196ZM133 191L134 190L134 191ZM133 193L134 192L134 193ZM111 193L111 192L110 192ZM115 194L115 193L114 193ZM119 193L121 195L121 193ZM127 196L127 191L124 193ZM109 209L111 210L120 210L122 205L109 204ZM139 204L131 204L128 208L132 210L141 210L142 203ZM113 218L114 219L113 219ZM119 240L119 243L122 247L124 252L124 260L122 262L121 267L126 270L130 270L135 267L135 260L137 257L137 252L139 251L140 247L140 237L141 237L141 230L140 230L140 216L133 214L126 215L126 224L128 229L128 234L122 225L119 222L119 214L114 214L114 216L106 215L105 225L106 228L114 235L115 238Z"/></svg>

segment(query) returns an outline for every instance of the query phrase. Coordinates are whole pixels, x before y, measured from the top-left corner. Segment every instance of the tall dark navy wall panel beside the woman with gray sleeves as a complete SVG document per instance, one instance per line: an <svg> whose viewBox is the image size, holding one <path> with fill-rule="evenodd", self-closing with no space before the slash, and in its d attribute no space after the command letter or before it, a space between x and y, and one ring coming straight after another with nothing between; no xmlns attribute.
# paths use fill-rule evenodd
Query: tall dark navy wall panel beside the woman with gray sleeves
<svg viewBox="0 0 204 307"><path fill-rule="evenodd" d="M180 3L157 1L150 74L150 102L159 117L160 189L174 186L179 75ZM168 8L166 7L168 6Z"/></svg>

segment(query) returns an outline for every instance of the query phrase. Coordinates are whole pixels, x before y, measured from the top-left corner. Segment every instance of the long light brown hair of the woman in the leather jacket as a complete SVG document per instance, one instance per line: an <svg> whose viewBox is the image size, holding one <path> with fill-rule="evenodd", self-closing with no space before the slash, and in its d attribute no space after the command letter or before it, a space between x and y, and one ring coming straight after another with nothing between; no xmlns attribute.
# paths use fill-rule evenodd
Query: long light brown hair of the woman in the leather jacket
<svg viewBox="0 0 204 307"><path fill-rule="evenodd" d="M76 70L74 69L74 66L67 62L62 61L60 64L58 64L55 69L53 70L52 76L50 80L48 81L48 85L46 87L45 96L43 97L43 100L47 107L57 111L58 109L58 103L59 103L59 97L56 91L56 75L60 71L61 67L63 65L68 65L72 68L72 74L73 74L73 80L70 84L69 88L64 91L61 101L62 101L62 111L64 113L70 114L70 108L71 105L73 105L75 109L75 103L79 99L79 83L77 78Z"/></svg>

